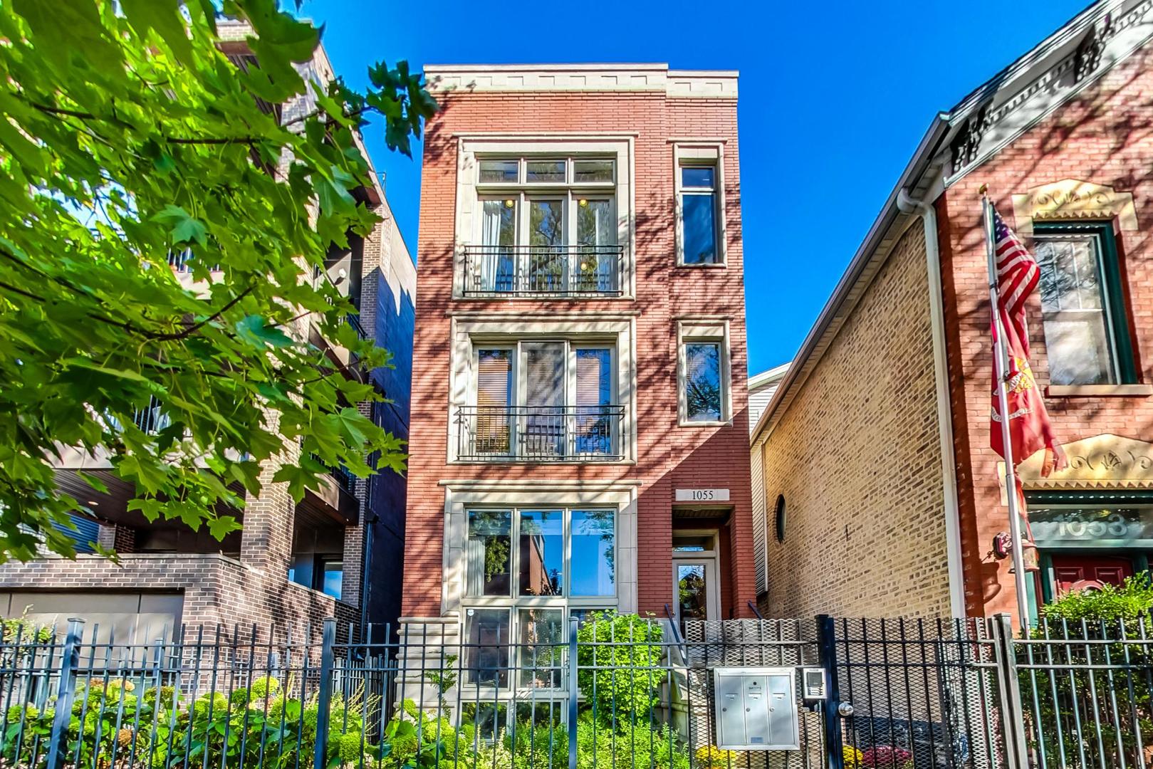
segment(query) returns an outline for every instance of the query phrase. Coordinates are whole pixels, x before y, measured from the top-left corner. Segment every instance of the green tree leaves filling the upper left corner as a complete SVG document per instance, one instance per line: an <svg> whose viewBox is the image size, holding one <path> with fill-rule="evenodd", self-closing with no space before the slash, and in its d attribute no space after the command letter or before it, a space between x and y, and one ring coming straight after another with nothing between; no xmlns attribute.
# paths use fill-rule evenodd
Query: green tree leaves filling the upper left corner
<svg viewBox="0 0 1153 769"><path fill-rule="evenodd" d="M128 510L224 536L273 458L297 497L337 465L404 467L354 407L384 394L309 340L387 365L314 272L372 232L354 131L379 113L407 152L436 108L420 74L317 82L319 30L276 0L220 3L247 27L212 0L121 5L0 5L0 560L71 555L68 513L126 485ZM80 499L54 467L77 450Z"/></svg>

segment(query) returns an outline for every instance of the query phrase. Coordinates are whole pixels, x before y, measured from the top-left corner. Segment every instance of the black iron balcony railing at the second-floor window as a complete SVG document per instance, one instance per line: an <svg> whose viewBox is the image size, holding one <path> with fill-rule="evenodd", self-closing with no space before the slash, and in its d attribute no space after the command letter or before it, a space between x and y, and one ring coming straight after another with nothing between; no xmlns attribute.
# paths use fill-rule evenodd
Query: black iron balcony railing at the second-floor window
<svg viewBox="0 0 1153 769"><path fill-rule="evenodd" d="M624 406L461 406L464 461L611 462L624 459Z"/></svg>

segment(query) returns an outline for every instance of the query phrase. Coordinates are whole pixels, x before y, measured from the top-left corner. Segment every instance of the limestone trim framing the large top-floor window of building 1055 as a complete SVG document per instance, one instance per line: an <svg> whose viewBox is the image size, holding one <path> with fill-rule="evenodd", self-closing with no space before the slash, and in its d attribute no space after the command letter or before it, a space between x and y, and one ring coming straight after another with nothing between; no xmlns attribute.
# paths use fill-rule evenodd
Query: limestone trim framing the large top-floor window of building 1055
<svg viewBox="0 0 1153 769"><path fill-rule="evenodd" d="M634 142L635 136L621 135L483 135L477 137L461 136L458 140L457 152L457 202L455 202L455 248L453 254L453 299L491 301L488 294L465 294L466 269L465 248L480 243L482 232L483 199L493 195L505 195L517 191L528 197L562 190L566 198L571 195L611 196L617 220L617 244L621 247L619 295L565 294L565 300L600 300L632 301L636 294L635 258L636 238L634 232L635 189L634 189ZM580 159L612 159L615 178L612 183L605 182L565 182L564 184L513 182L480 182L480 159L518 159L519 179L525 175L526 159L565 159L568 178L572 178L572 165ZM573 198L575 199L575 198ZM570 205L571 208L571 205ZM523 216L523 214L522 214ZM570 216L573 216L570 212ZM542 297L499 295L510 301L540 301Z"/></svg>

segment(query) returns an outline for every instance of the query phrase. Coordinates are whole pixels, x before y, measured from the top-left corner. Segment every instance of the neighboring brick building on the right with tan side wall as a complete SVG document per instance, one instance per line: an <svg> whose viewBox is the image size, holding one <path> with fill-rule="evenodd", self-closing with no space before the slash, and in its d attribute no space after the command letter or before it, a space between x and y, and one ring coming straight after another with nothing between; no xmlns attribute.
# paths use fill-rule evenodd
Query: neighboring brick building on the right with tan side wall
<svg viewBox="0 0 1153 769"><path fill-rule="evenodd" d="M1033 610L1148 568L1151 38L1150 3L1094 5L934 120L754 429L767 610L1016 613L981 184L1041 264L1032 363L1072 459L1020 468Z"/></svg>

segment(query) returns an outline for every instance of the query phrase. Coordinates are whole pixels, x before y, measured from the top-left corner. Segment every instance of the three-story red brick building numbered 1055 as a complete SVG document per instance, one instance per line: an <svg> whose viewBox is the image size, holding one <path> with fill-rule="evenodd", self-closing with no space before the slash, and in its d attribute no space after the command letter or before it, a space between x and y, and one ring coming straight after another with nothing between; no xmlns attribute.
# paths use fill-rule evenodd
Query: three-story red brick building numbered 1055
<svg viewBox="0 0 1153 769"><path fill-rule="evenodd" d="M737 75L435 66L404 613L751 613Z"/></svg>

